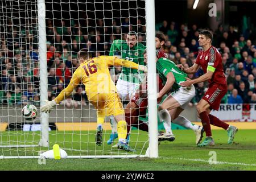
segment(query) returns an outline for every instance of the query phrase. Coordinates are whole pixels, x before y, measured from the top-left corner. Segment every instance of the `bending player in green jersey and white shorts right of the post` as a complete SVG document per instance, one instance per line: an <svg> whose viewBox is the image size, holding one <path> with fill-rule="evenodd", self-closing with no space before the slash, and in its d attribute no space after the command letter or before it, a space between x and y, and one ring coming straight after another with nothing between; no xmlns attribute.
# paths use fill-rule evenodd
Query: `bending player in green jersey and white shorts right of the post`
<svg viewBox="0 0 256 182"><path fill-rule="evenodd" d="M145 60L146 51L144 53ZM195 97L195 87L193 85L183 88L179 84L185 81L187 74L177 68L176 64L167 59L166 57L156 58L156 71L159 78L163 81L164 87L158 94L158 103L162 100L163 96L174 90L163 102L160 104L159 116L162 119L166 133L160 135L159 140L174 140L174 134L171 130L171 122L187 129L192 129L196 134L196 144L201 142L203 138L204 129L201 126L194 125L187 118L180 115L184 108L189 104L191 99Z"/></svg>

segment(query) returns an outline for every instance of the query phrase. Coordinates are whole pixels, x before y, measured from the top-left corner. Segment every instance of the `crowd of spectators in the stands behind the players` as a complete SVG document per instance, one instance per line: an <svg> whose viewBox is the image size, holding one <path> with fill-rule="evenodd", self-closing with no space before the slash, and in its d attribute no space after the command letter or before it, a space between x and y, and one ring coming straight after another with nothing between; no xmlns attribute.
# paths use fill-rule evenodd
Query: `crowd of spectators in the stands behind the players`
<svg viewBox="0 0 256 182"><path fill-rule="evenodd" d="M146 27L138 19L136 26L129 25L126 18L121 24L113 20L113 26L104 26L102 19L97 26L79 27L77 22L61 20L54 24L47 20L47 65L48 65L48 100L53 100L69 84L72 73L79 67L77 52L87 48L94 56L109 55L110 46L115 39L126 39L128 31L138 32L138 41L145 44ZM68 24L70 23L70 24ZM54 25L53 25L54 24ZM68 24L68 25L67 25ZM1 32L0 60L0 104L23 104L32 102L40 105L39 98L39 52L36 23L30 30L27 26L7 24L6 32ZM34 26L33 26L34 25ZM239 28L238 28L239 27ZM191 27L187 24L167 22L156 24L156 30L166 35L164 50L170 60L176 64L191 67L200 51L198 43L199 31L205 27ZM213 32L214 47L222 55L222 63L228 82L228 93L222 99L223 104L256 103L256 38L248 28L218 26ZM116 82L121 68L116 68L113 79ZM189 78L203 75L199 69ZM196 97L190 105L196 105L207 88L206 82L196 86ZM80 102L81 101L81 102ZM89 104L83 85L78 86L73 96L69 96L63 104L68 107Z"/></svg>

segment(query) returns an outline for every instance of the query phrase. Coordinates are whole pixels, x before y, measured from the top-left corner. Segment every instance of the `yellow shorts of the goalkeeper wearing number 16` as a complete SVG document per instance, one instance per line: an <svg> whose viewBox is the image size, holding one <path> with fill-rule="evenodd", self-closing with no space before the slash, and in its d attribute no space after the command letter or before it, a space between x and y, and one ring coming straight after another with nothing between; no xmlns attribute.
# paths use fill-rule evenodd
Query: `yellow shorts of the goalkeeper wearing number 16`
<svg viewBox="0 0 256 182"><path fill-rule="evenodd" d="M97 110L97 115L100 117L125 114L122 102L117 93L98 93L92 98L88 98Z"/></svg>

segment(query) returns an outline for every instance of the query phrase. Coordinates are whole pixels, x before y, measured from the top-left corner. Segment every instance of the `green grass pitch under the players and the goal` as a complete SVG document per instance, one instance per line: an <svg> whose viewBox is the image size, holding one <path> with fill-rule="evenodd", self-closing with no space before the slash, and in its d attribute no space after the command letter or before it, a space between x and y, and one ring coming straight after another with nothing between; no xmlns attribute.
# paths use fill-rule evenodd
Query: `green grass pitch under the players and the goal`
<svg viewBox="0 0 256 182"><path fill-rule="evenodd" d="M108 131L109 133L109 131ZM107 140L109 134L105 133ZM134 154L144 154L148 146L147 133L133 130L131 146L137 149ZM227 144L228 136L224 130L213 130L215 146L197 147L195 134L192 130L174 130L176 140L174 142L161 142L159 145L159 158L137 158L137 159L61 159L46 160L46 164L38 164L38 159L0 159L0 170L256 170L256 130L239 130L234 143ZM39 133L31 135L20 133L9 135L0 134L0 141L39 139ZM117 148L106 144L96 146L94 143L94 131L67 132L51 131L49 140L51 147L58 143L61 148L67 148L69 155L117 155L126 154ZM139 140L137 144L136 140ZM65 142L64 142L65 141ZM87 142L89 141L89 143ZM14 142L16 144L16 142ZM22 144L22 142L21 142ZM135 145L136 144L136 145ZM69 150L74 148L76 150ZM51 148L50 148L51 149ZM1 155L38 155L38 151L47 148L0 148ZM212 155L210 151L216 152L217 164L209 164Z"/></svg>

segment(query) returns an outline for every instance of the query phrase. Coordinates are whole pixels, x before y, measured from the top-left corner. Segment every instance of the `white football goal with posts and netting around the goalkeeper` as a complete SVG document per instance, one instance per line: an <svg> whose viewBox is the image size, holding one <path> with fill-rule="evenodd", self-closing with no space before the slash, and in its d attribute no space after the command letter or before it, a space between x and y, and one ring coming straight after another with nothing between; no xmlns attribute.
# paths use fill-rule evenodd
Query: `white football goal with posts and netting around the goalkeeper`
<svg viewBox="0 0 256 182"><path fill-rule="evenodd" d="M68 158L158 158L154 0L14 0L2 1L0 6L0 159L39 158L55 143L67 151ZM113 41L125 42L130 30L147 48L150 83L148 133L131 132L136 152L118 150L117 140L106 144L111 134L108 118L103 125L104 142L95 144L96 110L82 85L56 110L39 111L68 85L79 49L86 47L94 56L109 55ZM111 70L115 82L119 72ZM22 117L20 110L26 104L38 108L33 121Z"/></svg>

